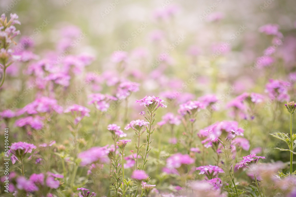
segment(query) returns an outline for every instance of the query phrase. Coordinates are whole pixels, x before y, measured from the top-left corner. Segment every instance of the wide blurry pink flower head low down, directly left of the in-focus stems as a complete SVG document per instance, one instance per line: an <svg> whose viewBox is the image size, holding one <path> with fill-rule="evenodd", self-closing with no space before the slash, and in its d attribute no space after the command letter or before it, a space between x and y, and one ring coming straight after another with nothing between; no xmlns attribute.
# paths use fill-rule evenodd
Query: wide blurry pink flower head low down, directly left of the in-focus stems
<svg viewBox="0 0 296 197"><path fill-rule="evenodd" d="M86 151L83 151L78 154L78 158L81 159L80 165L86 166L94 162L106 163L109 161L108 153L109 151L104 147L92 147Z"/></svg>

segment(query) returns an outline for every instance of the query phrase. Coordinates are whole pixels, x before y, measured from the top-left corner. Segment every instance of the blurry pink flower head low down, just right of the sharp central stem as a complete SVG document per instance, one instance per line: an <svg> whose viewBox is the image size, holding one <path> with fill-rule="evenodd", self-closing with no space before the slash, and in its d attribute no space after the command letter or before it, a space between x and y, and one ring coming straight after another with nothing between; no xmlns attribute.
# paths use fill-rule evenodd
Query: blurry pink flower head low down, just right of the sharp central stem
<svg viewBox="0 0 296 197"><path fill-rule="evenodd" d="M182 164L188 165L193 163L194 159L191 158L188 154L176 153L166 160L166 167L169 169L173 169L181 167Z"/></svg>

